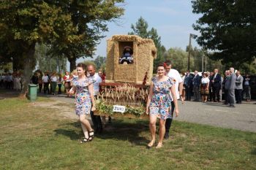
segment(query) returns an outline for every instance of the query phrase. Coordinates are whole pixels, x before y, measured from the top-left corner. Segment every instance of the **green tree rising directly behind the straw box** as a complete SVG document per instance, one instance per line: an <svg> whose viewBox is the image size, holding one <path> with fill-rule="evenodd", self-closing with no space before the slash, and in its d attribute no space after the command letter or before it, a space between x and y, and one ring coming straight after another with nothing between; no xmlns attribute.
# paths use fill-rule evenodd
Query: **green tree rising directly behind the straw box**
<svg viewBox="0 0 256 170"><path fill-rule="evenodd" d="M157 59L154 60L154 72L156 72L157 64L162 63L165 53L165 47L161 44L161 36L157 34L157 29L151 28L148 31L148 23L145 19L140 17L135 25L131 26L132 31L129 32L129 35L138 35L144 39L152 39L154 41L154 45L157 47Z"/></svg>

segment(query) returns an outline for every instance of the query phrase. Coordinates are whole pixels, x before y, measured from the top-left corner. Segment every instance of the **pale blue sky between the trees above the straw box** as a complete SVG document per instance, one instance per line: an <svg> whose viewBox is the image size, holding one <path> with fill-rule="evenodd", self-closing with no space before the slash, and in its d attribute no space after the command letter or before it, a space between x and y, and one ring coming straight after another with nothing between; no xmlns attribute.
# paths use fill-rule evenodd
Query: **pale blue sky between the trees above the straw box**
<svg viewBox="0 0 256 170"><path fill-rule="evenodd" d="M106 56L106 40L115 34L127 34L132 31L131 25L142 16L148 22L148 29L154 27L161 36L166 49L181 47L185 50L189 44L189 33L198 34L192 24L199 15L192 13L191 0L127 0L124 4L124 15L116 23L108 23L109 31L97 46L94 57ZM192 46L198 46L192 40ZM80 58L79 61L85 59Z"/></svg>

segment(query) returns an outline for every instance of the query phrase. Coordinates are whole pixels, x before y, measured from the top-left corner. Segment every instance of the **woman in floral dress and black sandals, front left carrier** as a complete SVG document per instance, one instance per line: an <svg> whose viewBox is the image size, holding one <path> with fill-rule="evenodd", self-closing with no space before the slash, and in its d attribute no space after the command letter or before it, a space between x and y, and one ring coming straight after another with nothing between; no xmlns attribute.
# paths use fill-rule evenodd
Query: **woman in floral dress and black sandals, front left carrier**
<svg viewBox="0 0 256 170"><path fill-rule="evenodd" d="M69 94L75 94L76 115L79 116L80 123L83 128L84 138L81 143L89 142L94 139L94 130L91 128L89 120L86 119L91 111L95 110L94 87L92 80L86 77L86 65L78 63L78 77L72 79L72 88Z"/></svg>

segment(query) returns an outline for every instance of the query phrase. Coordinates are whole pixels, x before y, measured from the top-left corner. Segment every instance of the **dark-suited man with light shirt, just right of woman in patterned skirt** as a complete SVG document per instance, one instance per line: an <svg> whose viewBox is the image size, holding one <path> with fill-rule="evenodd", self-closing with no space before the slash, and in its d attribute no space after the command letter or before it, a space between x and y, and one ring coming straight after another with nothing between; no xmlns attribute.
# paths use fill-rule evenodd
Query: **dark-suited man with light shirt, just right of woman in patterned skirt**
<svg viewBox="0 0 256 170"><path fill-rule="evenodd" d="M213 91L213 99L214 102L219 102L219 90L221 87L221 82L222 82L222 78L219 74L219 70L218 69L214 69L214 77L211 80L212 82L212 91ZM216 100L217 99L217 100Z"/></svg>

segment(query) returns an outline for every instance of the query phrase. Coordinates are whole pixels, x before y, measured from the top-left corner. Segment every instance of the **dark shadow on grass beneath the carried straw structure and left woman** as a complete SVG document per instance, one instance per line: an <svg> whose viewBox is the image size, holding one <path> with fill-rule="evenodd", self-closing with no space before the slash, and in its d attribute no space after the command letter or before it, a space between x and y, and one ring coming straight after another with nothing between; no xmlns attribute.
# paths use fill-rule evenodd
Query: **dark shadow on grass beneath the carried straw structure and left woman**
<svg viewBox="0 0 256 170"><path fill-rule="evenodd" d="M72 140L78 140L83 137L83 132L79 122L67 123L64 126L68 127L72 125L77 128L75 130L58 128L54 130L56 135L68 136ZM80 131L80 133L78 133ZM109 123L103 130L102 134L95 134L99 139L114 139L129 141L132 144L146 146L149 142L145 136L141 136L140 133L148 131L148 122L146 120L121 120L115 119L112 123Z"/></svg>

